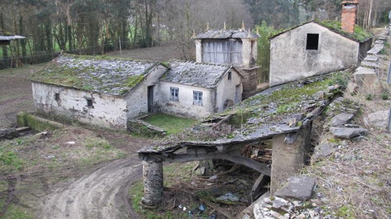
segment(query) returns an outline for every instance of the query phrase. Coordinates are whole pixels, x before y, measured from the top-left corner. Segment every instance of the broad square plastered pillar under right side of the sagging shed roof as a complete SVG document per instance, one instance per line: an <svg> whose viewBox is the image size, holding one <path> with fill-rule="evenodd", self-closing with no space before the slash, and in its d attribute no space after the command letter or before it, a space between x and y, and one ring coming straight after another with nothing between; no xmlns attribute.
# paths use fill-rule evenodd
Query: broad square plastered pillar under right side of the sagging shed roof
<svg viewBox="0 0 391 219"><path fill-rule="evenodd" d="M289 177L294 176L309 159L311 124L296 133L273 137L270 194L273 194Z"/></svg>

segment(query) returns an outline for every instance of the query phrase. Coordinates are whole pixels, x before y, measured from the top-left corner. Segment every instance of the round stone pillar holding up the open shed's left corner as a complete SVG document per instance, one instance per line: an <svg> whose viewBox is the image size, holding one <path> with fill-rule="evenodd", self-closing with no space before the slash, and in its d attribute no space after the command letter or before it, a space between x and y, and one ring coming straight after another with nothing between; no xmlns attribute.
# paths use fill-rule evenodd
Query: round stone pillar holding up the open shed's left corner
<svg viewBox="0 0 391 219"><path fill-rule="evenodd" d="M163 201L163 162L161 160L143 161L144 206L156 207Z"/></svg>

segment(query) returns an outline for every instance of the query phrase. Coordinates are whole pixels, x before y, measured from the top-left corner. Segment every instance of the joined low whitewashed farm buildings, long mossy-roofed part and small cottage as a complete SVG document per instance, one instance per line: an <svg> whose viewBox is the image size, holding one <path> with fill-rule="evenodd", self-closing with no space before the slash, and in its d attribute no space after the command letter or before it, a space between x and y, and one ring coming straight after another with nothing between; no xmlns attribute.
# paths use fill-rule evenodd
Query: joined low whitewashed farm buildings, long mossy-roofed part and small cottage
<svg viewBox="0 0 391 219"><path fill-rule="evenodd" d="M127 128L142 113L202 118L241 101L241 75L226 65L60 55L35 73L37 109Z"/></svg>

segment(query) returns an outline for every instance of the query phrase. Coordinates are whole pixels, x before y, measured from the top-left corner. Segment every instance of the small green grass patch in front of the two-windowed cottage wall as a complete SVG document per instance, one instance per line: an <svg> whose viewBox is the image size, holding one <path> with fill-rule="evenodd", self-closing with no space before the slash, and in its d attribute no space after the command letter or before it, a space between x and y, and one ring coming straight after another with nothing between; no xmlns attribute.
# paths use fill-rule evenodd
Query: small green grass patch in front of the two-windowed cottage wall
<svg viewBox="0 0 391 219"><path fill-rule="evenodd" d="M196 119L182 118L164 113L152 114L144 118L144 121L153 126L163 128L169 135L178 133L198 123Z"/></svg>

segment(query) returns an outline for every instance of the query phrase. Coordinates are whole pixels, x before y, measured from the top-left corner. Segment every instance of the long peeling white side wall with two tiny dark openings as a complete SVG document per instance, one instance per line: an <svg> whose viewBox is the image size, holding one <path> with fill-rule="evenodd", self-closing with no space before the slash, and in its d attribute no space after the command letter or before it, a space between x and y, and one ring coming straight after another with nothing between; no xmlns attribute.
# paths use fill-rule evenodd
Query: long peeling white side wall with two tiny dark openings
<svg viewBox="0 0 391 219"><path fill-rule="evenodd" d="M122 97L79 91L32 82L34 105L46 113L64 115L82 123L107 128L126 128L126 101ZM60 99L55 100L55 93ZM87 98L93 107L87 107Z"/></svg>

